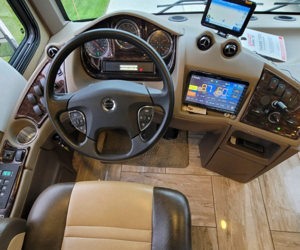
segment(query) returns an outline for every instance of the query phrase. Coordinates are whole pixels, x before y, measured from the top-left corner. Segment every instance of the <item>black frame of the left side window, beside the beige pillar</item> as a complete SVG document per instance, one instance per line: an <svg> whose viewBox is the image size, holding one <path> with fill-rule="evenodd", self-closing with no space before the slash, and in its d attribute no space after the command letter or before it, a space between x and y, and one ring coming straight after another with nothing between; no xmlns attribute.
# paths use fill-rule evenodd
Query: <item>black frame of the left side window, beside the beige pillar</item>
<svg viewBox="0 0 300 250"><path fill-rule="evenodd" d="M11 66L22 74L39 45L39 28L24 0L7 0L7 2L25 29L23 40L8 61Z"/></svg>

